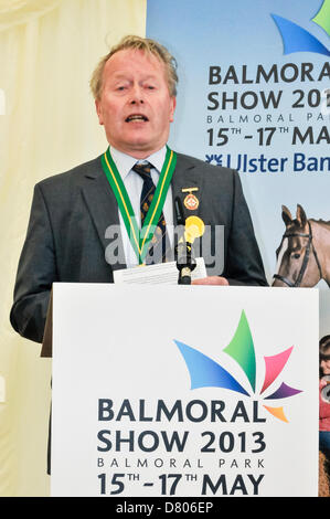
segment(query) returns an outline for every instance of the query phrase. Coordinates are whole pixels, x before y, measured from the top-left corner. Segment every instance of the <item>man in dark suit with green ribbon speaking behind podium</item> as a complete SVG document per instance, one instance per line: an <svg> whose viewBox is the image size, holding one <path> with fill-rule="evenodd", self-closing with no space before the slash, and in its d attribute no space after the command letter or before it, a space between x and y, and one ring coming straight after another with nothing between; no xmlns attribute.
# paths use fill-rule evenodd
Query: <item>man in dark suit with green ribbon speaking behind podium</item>
<svg viewBox="0 0 330 519"><path fill-rule="evenodd" d="M125 191L139 221L143 180L132 169L137 161L149 162L155 184L172 174L159 200L168 229L177 224L177 197L184 216L200 216L206 229L224 226L223 247L215 251L223 254L223 272L210 266L196 284L267 285L237 172L167 148L175 83L172 56L151 40L128 36L99 63L91 84L109 149L35 186L10 316L23 337L43 340L54 282L113 283L116 268L141 263L121 206ZM111 244L116 262L114 250L107 254Z"/></svg>

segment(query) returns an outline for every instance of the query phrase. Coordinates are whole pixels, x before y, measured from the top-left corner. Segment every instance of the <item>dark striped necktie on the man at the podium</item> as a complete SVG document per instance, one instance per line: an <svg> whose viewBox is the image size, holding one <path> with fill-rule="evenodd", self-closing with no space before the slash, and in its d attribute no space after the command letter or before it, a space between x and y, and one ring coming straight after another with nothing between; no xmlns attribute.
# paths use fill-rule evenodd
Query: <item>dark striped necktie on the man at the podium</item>
<svg viewBox="0 0 330 519"><path fill-rule="evenodd" d="M132 170L138 173L143 180L141 198L140 198L140 213L141 213L141 229L143 227L145 219L152 202L156 186L151 178L152 165L150 162L136 163ZM166 220L161 212L155 234L150 241L149 250L145 260L146 265L155 263L164 263L167 251L170 247L170 242L166 227Z"/></svg>

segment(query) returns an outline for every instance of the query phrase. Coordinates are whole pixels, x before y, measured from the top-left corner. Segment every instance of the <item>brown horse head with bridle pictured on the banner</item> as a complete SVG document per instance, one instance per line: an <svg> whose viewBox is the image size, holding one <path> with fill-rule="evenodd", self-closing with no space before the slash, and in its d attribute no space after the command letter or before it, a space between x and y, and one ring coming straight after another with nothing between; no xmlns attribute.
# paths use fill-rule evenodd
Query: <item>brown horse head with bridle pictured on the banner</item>
<svg viewBox="0 0 330 519"><path fill-rule="evenodd" d="M312 244L312 230L301 205L297 204L292 219L286 205L281 206L286 225L279 247L276 251L277 272L272 286L311 287L320 280L320 266Z"/></svg>

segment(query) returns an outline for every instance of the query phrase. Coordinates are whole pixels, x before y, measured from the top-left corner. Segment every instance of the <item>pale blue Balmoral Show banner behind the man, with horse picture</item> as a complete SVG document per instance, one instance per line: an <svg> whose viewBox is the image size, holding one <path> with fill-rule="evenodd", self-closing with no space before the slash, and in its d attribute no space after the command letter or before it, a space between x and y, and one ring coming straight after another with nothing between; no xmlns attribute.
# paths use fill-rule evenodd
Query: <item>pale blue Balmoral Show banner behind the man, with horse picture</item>
<svg viewBox="0 0 330 519"><path fill-rule="evenodd" d="M238 170L270 284L283 205L297 231L323 220L290 257L297 269L309 246L301 286L328 290L330 0L150 0L147 35L178 61L172 148ZM292 279L292 268L280 273ZM320 299L329 333L329 297Z"/></svg>

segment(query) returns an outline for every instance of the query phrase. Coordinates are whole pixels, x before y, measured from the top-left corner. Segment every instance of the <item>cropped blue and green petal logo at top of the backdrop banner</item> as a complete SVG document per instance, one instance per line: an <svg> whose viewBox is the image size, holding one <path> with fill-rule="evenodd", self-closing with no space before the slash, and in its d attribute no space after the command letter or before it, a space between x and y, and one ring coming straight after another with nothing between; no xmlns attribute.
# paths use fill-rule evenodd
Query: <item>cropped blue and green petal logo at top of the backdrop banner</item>
<svg viewBox="0 0 330 519"><path fill-rule="evenodd" d="M284 54L292 52L316 52L330 56L330 51L309 31L286 18L272 14L283 39ZM330 36L330 0L324 0L312 19Z"/></svg>

